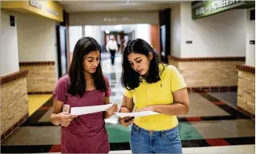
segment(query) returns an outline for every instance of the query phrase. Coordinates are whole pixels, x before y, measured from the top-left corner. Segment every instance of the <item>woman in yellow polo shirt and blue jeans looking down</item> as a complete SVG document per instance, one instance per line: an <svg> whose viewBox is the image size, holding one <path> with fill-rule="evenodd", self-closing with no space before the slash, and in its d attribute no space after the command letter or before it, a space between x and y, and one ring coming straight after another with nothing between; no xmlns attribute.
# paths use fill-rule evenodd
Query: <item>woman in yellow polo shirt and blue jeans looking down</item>
<svg viewBox="0 0 256 154"><path fill-rule="evenodd" d="M123 53L121 113L154 111L153 116L120 118L132 124L132 153L182 153L177 115L189 112L186 83L175 66L160 63L157 53L142 39L131 41Z"/></svg>

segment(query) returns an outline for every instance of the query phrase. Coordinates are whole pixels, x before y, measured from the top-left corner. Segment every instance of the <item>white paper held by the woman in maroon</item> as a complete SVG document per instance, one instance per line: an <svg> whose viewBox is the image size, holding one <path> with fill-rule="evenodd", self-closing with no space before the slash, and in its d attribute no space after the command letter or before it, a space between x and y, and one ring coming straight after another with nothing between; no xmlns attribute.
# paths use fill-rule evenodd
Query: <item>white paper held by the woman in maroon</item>
<svg viewBox="0 0 256 154"><path fill-rule="evenodd" d="M99 112L105 111L106 109L110 108L113 105L114 103L106 104L102 106L71 107L70 114L79 116L79 115L89 114L89 113L99 113Z"/></svg>

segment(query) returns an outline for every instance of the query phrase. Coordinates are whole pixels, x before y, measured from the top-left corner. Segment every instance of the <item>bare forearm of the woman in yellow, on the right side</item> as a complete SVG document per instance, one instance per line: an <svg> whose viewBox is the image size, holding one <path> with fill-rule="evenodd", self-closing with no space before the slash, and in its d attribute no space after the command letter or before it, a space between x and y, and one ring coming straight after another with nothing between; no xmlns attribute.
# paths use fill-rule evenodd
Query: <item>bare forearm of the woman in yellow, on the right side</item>
<svg viewBox="0 0 256 154"><path fill-rule="evenodd" d="M178 102L168 105L154 105L153 108L157 113L163 113L170 116L184 115L189 112L189 106Z"/></svg>

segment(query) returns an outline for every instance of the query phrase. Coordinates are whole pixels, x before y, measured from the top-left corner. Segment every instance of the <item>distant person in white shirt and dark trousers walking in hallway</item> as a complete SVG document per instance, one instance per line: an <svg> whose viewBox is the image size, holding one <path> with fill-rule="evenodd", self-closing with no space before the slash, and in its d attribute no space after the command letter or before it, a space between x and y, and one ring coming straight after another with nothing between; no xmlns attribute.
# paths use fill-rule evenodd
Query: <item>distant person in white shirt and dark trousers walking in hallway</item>
<svg viewBox="0 0 256 154"><path fill-rule="evenodd" d="M114 58L116 52L118 52L118 46L113 35L110 36L110 41L106 44L106 51L110 52L111 64L114 65Z"/></svg>

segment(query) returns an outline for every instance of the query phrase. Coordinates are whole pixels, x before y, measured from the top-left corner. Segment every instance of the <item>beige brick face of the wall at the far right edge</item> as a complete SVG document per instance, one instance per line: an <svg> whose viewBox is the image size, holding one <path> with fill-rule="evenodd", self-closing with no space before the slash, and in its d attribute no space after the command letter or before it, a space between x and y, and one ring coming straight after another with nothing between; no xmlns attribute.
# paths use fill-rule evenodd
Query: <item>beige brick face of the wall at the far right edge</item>
<svg viewBox="0 0 256 154"><path fill-rule="evenodd" d="M239 70L237 106L255 114L255 73Z"/></svg>

